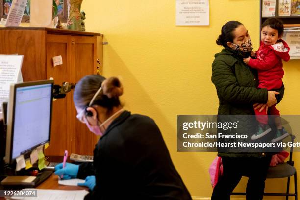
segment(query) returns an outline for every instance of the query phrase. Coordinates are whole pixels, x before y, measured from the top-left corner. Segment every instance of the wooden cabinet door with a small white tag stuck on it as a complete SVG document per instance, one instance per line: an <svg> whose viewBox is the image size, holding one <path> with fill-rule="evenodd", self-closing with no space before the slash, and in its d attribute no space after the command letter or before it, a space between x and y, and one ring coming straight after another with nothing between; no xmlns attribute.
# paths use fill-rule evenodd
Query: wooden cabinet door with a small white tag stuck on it
<svg viewBox="0 0 300 200"><path fill-rule="evenodd" d="M47 79L54 78L54 84L62 85L63 82L71 82L70 61L71 61L71 36L48 34L46 38L46 64ZM62 56L63 64L53 66L52 58ZM69 128L72 95L70 93L63 99L53 101L51 139L46 155L63 155L64 150L72 152L71 143L73 133Z"/></svg>

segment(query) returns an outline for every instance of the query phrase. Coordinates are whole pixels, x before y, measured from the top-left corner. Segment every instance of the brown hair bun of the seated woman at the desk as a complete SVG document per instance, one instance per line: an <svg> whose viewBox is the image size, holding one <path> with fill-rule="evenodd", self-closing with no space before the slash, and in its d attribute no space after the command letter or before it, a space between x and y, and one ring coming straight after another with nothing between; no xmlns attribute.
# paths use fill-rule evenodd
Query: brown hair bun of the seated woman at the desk
<svg viewBox="0 0 300 200"><path fill-rule="evenodd" d="M108 98L116 98L123 94L123 86L117 77L110 77L102 82L103 94Z"/></svg>

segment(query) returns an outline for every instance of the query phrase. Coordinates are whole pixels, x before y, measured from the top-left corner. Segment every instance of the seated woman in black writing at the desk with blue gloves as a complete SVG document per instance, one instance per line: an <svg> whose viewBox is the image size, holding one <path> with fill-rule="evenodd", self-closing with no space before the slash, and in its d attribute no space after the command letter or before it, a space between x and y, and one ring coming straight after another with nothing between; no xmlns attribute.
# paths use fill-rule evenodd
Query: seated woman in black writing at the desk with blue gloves
<svg viewBox="0 0 300 200"><path fill-rule="evenodd" d="M85 179L85 199L192 200L154 120L125 110L122 94L116 77L87 75L76 84L77 118L101 137L93 163L61 163L55 174Z"/></svg>

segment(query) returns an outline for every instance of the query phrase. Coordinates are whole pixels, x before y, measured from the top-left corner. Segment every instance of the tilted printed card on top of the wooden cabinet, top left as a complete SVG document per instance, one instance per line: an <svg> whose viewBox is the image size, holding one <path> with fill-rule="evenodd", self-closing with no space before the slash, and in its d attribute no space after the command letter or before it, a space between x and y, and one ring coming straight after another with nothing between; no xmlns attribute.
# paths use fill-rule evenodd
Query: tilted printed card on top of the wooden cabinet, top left
<svg viewBox="0 0 300 200"><path fill-rule="evenodd" d="M26 4L27 0L13 0L6 19L6 27L20 25Z"/></svg>

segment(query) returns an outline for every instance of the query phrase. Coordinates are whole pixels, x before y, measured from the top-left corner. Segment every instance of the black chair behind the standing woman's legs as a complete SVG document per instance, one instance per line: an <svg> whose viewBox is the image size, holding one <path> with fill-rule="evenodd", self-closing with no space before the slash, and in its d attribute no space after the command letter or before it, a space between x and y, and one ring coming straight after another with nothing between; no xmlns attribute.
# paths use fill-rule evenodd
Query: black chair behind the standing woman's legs
<svg viewBox="0 0 300 200"><path fill-rule="evenodd" d="M291 135L291 141L294 142L295 136ZM280 163L275 167L270 167L267 172L267 178L287 178L286 193L264 193L264 196L285 196L286 200L290 196L295 197L295 200L298 200L297 193L297 172L294 167L294 161L292 160L293 147L290 150L290 158L286 163ZM294 186L295 192L290 193L290 178L294 175ZM246 195L245 192L232 192L231 195Z"/></svg>

